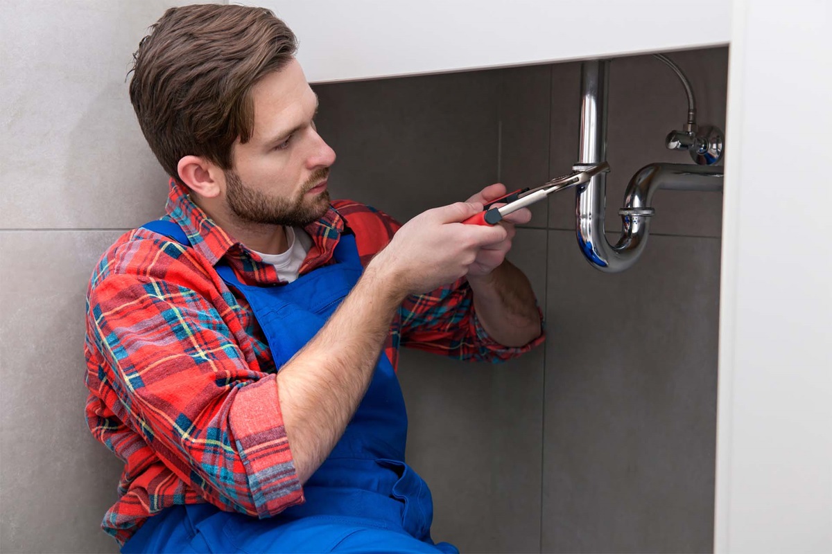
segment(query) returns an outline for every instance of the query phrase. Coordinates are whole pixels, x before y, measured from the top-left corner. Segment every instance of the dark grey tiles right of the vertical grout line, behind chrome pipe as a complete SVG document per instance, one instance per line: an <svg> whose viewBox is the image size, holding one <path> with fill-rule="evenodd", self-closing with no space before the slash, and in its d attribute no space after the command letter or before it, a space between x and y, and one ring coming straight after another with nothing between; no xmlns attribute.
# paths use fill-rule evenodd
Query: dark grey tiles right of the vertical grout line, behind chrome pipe
<svg viewBox="0 0 832 554"><path fill-rule="evenodd" d="M725 130L727 49L670 56L691 79L699 124ZM579 80L580 64L552 66L552 175L577 159ZM613 60L609 86L615 243L631 175L691 159L664 147L687 103L661 61ZM579 255L574 195L549 204L542 550L710 552L722 195L656 194L645 253L619 275Z"/></svg>

